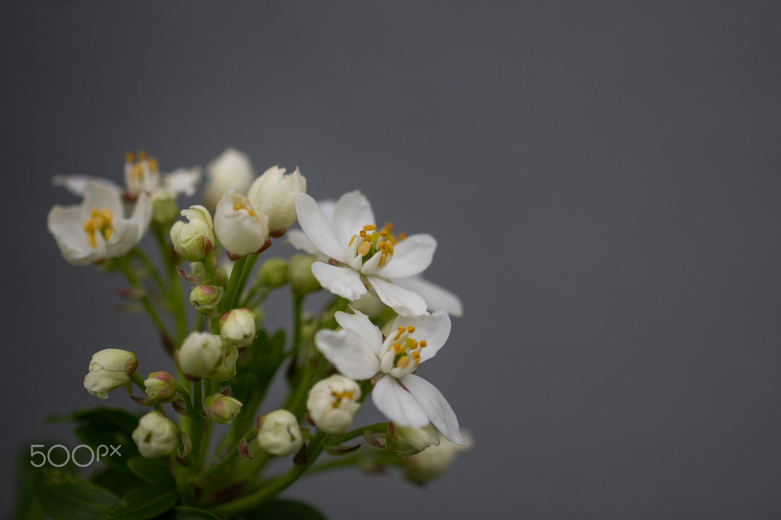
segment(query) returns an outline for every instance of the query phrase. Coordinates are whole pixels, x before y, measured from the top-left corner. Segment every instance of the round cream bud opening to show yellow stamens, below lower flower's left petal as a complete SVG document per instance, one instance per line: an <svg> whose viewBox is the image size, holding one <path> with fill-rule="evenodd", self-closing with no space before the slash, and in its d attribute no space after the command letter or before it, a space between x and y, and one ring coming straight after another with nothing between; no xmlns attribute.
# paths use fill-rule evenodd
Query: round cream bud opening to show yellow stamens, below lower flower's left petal
<svg viewBox="0 0 781 520"><path fill-rule="evenodd" d="M361 387L348 377L335 374L320 379L306 399L306 410L311 422L333 436L344 435L361 404Z"/></svg>

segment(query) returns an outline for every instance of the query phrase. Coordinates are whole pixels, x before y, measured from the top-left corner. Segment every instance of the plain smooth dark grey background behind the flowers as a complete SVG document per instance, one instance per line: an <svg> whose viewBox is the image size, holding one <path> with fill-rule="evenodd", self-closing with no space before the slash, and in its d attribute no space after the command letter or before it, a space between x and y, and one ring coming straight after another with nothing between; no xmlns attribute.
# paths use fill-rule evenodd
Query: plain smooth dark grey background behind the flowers
<svg viewBox="0 0 781 520"><path fill-rule="evenodd" d="M779 4L325 3L3 5L4 508L13 452L69 431L41 419L98 404L93 352L168 366L113 312L119 278L60 258L45 216L74 199L50 177L234 145L433 233L427 276L466 308L423 375L473 451L426 490L341 472L287 496L331 518L779 518Z"/></svg>

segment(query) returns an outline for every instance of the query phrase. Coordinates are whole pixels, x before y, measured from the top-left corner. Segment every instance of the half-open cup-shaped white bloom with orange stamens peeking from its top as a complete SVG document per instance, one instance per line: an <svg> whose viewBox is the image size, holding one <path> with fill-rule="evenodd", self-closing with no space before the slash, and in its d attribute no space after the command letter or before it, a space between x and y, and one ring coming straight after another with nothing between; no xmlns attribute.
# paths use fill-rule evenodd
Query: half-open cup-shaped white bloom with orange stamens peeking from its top
<svg viewBox="0 0 781 520"><path fill-rule="evenodd" d="M269 219L247 197L230 189L219 199L214 213L214 233L235 258L259 252L269 238Z"/></svg>

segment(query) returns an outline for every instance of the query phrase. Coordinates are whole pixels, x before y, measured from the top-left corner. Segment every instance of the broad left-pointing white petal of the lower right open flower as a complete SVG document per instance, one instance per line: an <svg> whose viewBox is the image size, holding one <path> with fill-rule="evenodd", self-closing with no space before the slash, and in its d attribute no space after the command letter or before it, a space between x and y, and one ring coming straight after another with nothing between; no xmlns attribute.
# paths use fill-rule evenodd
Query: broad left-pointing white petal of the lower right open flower
<svg viewBox="0 0 781 520"><path fill-rule="evenodd" d="M380 371L369 344L350 329L320 329L315 333L315 345L344 376L369 379Z"/></svg>

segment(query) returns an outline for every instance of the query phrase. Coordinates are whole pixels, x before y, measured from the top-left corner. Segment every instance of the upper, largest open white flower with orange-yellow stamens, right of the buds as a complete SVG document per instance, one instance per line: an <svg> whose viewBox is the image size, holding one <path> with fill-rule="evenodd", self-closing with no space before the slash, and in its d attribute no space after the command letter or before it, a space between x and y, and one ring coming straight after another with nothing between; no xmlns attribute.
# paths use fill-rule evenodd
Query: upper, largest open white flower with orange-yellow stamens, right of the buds
<svg viewBox="0 0 781 520"><path fill-rule="evenodd" d="M296 209L302 231L289 231L288 240L318 257L312 273L333 294L355 301L368 286L400 315L425 315L427 308L461 315L455 294L418 276L437 248L430 234L397 237L389 224L378 230L371 205L359 191L342 195L335 204L318 204L301 194ZM331 258L337 265L328 263Z"/></svg>

